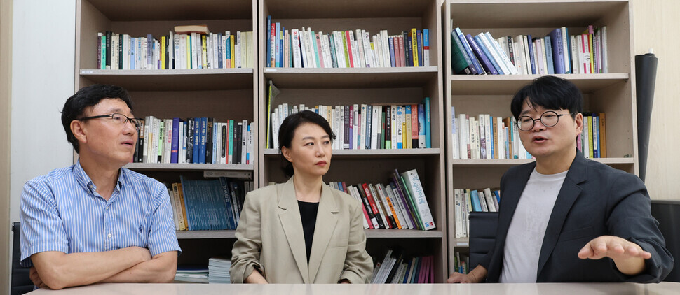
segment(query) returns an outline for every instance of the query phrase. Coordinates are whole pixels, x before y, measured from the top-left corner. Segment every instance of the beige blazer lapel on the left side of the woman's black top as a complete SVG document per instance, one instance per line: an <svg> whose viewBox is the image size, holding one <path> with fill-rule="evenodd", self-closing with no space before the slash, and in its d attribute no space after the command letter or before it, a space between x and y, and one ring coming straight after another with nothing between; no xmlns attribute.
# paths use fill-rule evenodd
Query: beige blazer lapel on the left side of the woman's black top
<svg viewBox="0 0 680 295"><path fill-rule="evenodd" d="M297 206L297 198L295 197L295 187L293 185L293 178L283 185L283 189L278 192L278 207L283 209L278 217L283 226L290 252L297 264L297 268L302 274L302 280L305 284L309 284L309 272L307 269L307 252L304 241L304 232L302 231L302 219L300 218L300 210Z"/></svg>

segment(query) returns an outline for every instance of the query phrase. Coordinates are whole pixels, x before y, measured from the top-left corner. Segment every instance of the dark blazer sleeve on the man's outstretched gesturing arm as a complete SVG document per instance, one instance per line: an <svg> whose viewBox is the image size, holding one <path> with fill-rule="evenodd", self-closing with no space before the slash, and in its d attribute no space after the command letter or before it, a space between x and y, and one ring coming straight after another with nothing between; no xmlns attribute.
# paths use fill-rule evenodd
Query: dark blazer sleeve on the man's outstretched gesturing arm
<svg viewBox="0 0 680 295"><path fill-rule="evenodd" d="M619 176L619 175L617 175ZM628 276L620 273L613 260L612 268L627 282L660 282L673 268L673 257L666 249L658 222L651 215L651 199L644 183L635 175L617 177L609 200L607 226L613 236L636 243L652 257L645 260L645 271Z"/></svg>

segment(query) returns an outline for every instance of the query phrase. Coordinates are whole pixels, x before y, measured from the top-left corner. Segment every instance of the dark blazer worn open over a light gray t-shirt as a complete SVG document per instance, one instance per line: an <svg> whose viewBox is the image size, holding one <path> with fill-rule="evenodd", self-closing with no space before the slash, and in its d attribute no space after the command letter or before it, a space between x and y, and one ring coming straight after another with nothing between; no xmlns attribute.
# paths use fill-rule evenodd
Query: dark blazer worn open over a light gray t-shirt
<svg viewBox="0 0 680 295"><path fill-rule="evenodd" d="M536 162L516 166L501 178L496 245L480 261L489 271L487 282L501 277L508 227L534 168ZM660 282L672 270L673 257L665 249L650 208L647 189L636 175L587 160L577 152L545 229L536 282ZM650 252L644 273L624 275L609 258L578 258L586 243L604 235L625 238Z"/></svg>

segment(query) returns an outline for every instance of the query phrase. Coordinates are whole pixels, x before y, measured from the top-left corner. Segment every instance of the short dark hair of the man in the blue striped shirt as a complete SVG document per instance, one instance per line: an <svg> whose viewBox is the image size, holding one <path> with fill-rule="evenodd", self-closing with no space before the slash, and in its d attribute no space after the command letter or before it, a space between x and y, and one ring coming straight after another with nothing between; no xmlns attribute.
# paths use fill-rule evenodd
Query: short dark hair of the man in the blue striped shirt
<svg viewBox="0 0 680 295"><path fill-rule="evenodd" d="M114 85L95 84L83 87L64 103L62 125L64 125L64 131L66 131L66 139L73 145L76 152L80 152L80 150L78 140L71 131L71 122L83 117L86 108L96 106L102 99L121 99L132 111L130 94L123 87Z"/></svg>

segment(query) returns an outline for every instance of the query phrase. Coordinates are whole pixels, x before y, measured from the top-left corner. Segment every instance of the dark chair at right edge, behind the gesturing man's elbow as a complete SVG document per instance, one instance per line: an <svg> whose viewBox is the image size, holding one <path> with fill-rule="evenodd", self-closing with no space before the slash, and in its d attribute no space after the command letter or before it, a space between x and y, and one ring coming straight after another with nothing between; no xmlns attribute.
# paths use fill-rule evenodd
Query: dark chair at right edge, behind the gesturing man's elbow
<svg viewBox="0 0 680 295"><path fill-rule="evenodd" d="M673 270L664 279L680 282L680 201L652 200L652 216L666 240L666 249L675 259Z"/></svg>

